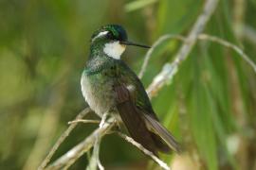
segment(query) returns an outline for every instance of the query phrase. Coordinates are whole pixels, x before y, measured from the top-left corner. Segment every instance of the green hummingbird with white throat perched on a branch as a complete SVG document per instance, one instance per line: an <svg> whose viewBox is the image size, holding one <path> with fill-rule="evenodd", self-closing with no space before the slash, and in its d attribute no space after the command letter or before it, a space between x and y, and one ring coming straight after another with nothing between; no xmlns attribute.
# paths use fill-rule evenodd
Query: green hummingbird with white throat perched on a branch
<svg viewBox="0 0 256 170"><path fill-rule="evenodd" d="M105 112L119 115L131 137L155 156L172 149L179 152L174 136L159 123L143 84L120 59L127 46L150 46L128 41L119 25L101 26L90 43L81 78L82 95L89 107L100 117Z"/></svg>

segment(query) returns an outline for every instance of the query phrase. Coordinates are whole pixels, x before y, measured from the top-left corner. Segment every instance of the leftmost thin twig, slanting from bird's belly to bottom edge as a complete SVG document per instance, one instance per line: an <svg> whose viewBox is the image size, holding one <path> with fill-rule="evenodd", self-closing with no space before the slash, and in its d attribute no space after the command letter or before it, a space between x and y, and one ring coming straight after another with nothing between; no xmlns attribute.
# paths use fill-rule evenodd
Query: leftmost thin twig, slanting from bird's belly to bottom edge
<svg viewBox="0 0 256 170"><path fill-rule="evenodd" d="M75 120L79 120L82 119L82 117L84 117L88 112L90 112L91 109L86 108L84 110L82 110L76 117ZM60 145L64 142L64 139L69 135L69 133L78 125L78 123L74 123L72 125L70 125L68 128L66 128L66 130L64 131L64 133L62 134L62 136L57 140L57 142L52 146L52 148L50 149L48 155L46 156L46 159L41 163L41 165L39 166L38 170L43 170L46 168L47 163L51 160L53 154L56 152L56 150L60 147Z"/></svg>

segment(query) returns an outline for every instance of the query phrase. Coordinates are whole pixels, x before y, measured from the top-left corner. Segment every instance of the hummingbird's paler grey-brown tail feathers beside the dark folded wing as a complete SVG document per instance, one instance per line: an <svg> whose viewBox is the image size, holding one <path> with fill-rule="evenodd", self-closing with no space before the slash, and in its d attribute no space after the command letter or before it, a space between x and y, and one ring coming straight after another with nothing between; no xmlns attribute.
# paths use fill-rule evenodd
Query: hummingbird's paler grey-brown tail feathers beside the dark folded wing
<svg viewBox="0 0 256 170"><path fill-rule="evenodd" d="M174 136L165 128L163 127L157 120L155 120L149 114L143 114L146 126L161 140L165 142L170 148L172 148L175 152L180 153L181 148L180 145L174 139ZM158 144L162 144L159 140Z"/></svg>

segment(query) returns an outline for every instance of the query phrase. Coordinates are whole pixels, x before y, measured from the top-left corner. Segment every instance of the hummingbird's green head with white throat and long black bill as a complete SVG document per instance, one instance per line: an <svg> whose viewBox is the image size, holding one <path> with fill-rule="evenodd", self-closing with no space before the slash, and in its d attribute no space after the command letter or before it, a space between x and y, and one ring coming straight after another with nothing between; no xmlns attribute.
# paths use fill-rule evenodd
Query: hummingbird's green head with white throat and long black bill
<svg viewBox="0 0 256 170"><path fill-rule="evenodd" d="M102 48L108 57L114 59L120 59L126 45L150 48L147 45L129 42L125 29L119 25L102 26L92 35L91 45L96 48Z"/></svg>

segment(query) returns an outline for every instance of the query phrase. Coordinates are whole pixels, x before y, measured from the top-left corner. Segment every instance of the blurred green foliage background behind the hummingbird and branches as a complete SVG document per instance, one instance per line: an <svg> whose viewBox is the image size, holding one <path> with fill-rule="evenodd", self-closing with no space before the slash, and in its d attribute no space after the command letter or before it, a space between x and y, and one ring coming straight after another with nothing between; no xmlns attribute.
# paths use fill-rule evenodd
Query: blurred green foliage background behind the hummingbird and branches
<svg viewBox="0 0 256 170"><path fill-rule="evenodd" d="M95 29L119 24L129 39L153 44L166 33L187 35L204 3L0 0L0 169L36 169L86 106L80 77ZM237 44L256 62L255 15L255 0L220 0L205 33ZM180 45L166 41L155 49L142 78L145 87ZM129 47L123 59L138 73L145 53ZM160 157L173 169L256 169L256 76L230 49L199 41L152 102L188 151ZM95 127L76 127L53 161ZM157 169L115 134L103 138L101 161L106 169ZM70 169L86 164L85 155Z"/></svg>

